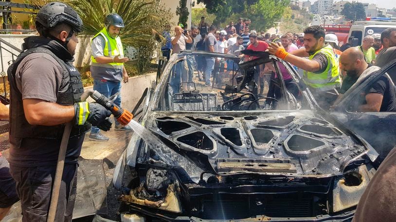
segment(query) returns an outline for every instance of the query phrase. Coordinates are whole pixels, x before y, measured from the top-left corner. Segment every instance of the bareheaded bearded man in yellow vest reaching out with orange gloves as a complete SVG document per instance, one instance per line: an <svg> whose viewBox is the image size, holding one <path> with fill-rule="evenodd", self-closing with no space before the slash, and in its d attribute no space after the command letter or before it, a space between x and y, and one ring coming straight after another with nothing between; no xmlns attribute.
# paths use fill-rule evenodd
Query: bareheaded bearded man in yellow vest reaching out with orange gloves
<svg viewBox="0 0 396 222"><path fill-rule="evenodd" d="M340 65L333 48L324 43L324 36L322 27L310 26L304 30L304 48L288 53L280 43L271 43L268 50L270 54L305 70L303 81L318 104L328 109L337 98L336 88L340 87L341 79Z"/></svg>

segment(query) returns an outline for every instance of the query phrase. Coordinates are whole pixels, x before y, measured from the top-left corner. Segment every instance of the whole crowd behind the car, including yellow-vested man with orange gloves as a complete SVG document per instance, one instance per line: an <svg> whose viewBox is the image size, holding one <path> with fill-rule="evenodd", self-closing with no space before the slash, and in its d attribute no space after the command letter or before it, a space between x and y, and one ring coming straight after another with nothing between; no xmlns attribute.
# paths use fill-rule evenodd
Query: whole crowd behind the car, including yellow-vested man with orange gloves
<svg viewBox="0 0 396 222"><path fill-rule="evenodd" d="M178 42L173 40L172 47L176 49L174 53L180 52L179 49L191 49L234 54L239 56L243 62L257 58L241 54L243 49L268 51L299 70L304 83L311 89L318 104L327 110L337 106L342 100L343 94L359 79L362 73L364 74L363 71L372 73L396 58L393 48L396 46L396 36L394 36L396 30L394 28L365 36L362 44L357 47L351 47L352 36L348 43L340 48L335 33L326 34L320 26L308 27L303 33L287 32L283 35L257 33L250 27L250 19L239 18L236 24L230 21L229 25L220 31L216 26L208 25L205 22L205 17L201 17L198 27L193 27L191 31L183 31L180 26L175 28L175 32L184 35L184 39ZM190 38L191 35L192 38ZM187 39L191 39L191 42L188 42ZM185 46L187 44L192 44L192 47L187 48ZM193 61L187 60L187 63L191 63L189 66L192 67ZM232 67L230 62L222 63L221 60L214 57L197 59L196 63L199 80L205 81L208 86L212 85L210 77L213 76L216 67ZM192 69L189 68L189 70ZM269 71L270 73L272 71L270 77L265 75ZM281 67L281 71L283 79L288 81L286 84L288 90L293 95L298 94L295 82L286 68ZM190 72L184 79L192 80L193 73ZM391 77L395 80L393 75ZM265 82L269 83L271 78L277 78L273 67L270 65L269 67L264 67L264 65L255 67L254 79L258 84L260 94L263 93ZM179 84L180 82L175 83L175 90ZM366 92L365 104L357 110L396 111L396 95L393 85L391 79L378 79ZM273 92L270 84L269 88L267 96L276 97L277 93Z"/></svg>

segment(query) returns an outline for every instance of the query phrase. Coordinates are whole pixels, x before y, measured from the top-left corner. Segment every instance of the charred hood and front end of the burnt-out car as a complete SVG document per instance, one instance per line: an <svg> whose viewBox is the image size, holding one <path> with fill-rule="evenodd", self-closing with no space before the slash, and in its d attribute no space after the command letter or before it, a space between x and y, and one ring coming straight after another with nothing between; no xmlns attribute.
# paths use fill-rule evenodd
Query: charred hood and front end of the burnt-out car
<svg viewBox="0 0 396 222"><path fill-rule="evenodd" d="M316 217L357 203L375 172L359 166L364 146L311 111L249 114L153 113L146 126L200 166L201 178L197 184L180 169L157 164L155 152L142 146L121 197L126 209L154 207L172 220L260 215L260 221ZM357 198L343 203L346 194Z"/></svg>

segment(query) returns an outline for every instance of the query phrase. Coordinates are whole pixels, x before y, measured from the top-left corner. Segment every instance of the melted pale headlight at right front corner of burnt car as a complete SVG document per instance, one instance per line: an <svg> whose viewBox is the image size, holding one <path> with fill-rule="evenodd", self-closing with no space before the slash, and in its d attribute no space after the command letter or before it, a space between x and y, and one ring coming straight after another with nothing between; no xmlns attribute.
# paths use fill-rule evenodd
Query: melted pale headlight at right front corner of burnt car
<svg viewBox="0 0 396 222"><path fill-rule="evenodd" d="M345 173L344 177L336 179L333 190L333 213L358 205L375 172L371 165L362 165L355 171Z"/></svg>

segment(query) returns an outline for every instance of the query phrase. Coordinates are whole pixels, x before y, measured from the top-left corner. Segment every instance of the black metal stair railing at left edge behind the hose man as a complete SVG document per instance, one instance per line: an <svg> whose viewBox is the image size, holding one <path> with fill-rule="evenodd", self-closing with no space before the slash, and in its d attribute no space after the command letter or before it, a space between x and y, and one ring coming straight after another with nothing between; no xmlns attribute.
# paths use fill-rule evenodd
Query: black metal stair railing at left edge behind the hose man
<svg viewBox="0 0 396 222"><path fill-rule="evenodd" d="M10 65L15 61L15 59L18 57L18 54L14 53L13 50L17 51L18 54L22 52L21 49L11 45L4 39L0 38L0 65L1 65L1 72L0 72L0 78L2 79L3 83L3 89L4 89L4 95L0 96L0 101L1 102L9 102L9 93L7 92L7 85L8 85L8 80L7 80L7 70L4 70L5 66L4 63L8 63ZM11 55L11 60L10 61L4 61L4 53L8 52L8 54ZM7 66L8 67L8 66ZM4 101L5 100L5 101Z"/></svg>

